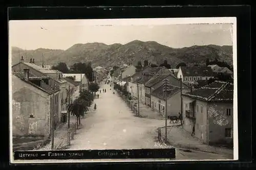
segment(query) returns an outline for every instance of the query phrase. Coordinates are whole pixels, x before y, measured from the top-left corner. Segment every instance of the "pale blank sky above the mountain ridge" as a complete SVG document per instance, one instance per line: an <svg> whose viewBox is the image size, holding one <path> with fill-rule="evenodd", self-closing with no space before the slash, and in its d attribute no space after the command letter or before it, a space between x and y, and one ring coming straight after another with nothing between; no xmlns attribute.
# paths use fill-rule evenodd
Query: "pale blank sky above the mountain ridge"
<svg viewBox="0 0 256 170"><path fill-rule="evenodd" d="M113 19L112 19L113 20ZM103 26L99 23L104 24ZM230 23L168 24L139 22L141 25L93 23L89 20L18 20L9 22L10 46L26 50L50 48L67 50L76 43L125 44L133 40L156 41L180 48L193 45L232 45ZM120 23L120 22L118 22Z"/></svg>

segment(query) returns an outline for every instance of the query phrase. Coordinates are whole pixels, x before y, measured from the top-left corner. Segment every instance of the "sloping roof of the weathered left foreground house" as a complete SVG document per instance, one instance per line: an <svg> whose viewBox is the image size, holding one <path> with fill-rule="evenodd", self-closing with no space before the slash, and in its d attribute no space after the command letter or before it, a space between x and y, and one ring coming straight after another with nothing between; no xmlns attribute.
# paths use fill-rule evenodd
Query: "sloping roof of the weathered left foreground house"
<svg viewBox="0 0 256 170"><path fill-rule="evenodd" d="M45 92L47 92L47 93L49 93L49 94L53 94L54 92L59 91L59 88L55 88L55 89L54 89L54 88L50 87L49 85L47 85L47 84L44 83L44 82L41 82L41 85L38 86L38 85L32 83L31 81L27 81L27 80L25 79L24 74L22 74L22 73L16 72L14 75L15 75L16 77L18 77L19 79L23 80L24 82L29 83L29 84L31 84L32 86L35 86L36 88L38 88L38 89L40 89L40 90L42 90L42 91L45 91ZM29 79L30 79L30 78L29 78Z"/></svg>

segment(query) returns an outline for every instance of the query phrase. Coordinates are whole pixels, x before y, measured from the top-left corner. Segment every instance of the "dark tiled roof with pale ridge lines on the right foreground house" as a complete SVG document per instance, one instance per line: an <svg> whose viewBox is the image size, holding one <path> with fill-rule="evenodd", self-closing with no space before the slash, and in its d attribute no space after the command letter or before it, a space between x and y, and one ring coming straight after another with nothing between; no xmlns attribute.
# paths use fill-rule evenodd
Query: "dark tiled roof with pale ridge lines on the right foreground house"
<svg viewBox="0 0 256 170"><path fill-rule="evenodd" d="M233 84L230 82L215 81L183 95L207 102L232 102Z"/></svg>

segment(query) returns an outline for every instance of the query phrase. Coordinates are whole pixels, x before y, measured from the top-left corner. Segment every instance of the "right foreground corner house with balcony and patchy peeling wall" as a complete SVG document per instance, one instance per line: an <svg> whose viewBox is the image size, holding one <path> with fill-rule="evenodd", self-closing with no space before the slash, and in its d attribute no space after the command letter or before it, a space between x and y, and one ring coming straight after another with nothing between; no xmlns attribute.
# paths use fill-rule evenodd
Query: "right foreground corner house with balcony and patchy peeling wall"
<svg viewBox="0 0 256 170"><path fill-rule="evenodd" d="M215 81L182 96L186 131L206 144L232 144L232 83Z"/></svg>

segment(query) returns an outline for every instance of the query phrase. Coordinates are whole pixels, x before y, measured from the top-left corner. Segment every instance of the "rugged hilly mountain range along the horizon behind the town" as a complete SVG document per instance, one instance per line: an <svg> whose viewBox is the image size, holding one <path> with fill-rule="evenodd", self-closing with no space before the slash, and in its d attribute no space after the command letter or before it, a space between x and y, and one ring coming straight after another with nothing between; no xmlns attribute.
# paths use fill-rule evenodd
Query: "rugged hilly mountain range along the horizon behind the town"
<svg viewBox="0 0 256 170"><path fill-rule="evenodd" d="M18 63L21 56L25 61L34 58L36 64L41 64L42 60L46 65L56 65L65 62L69 66L76 62L92 62L92 66L110 67L114 65L143 63L148 60L157 65L164 60L175 68L180 62L188 66L195 64L205 64L206 58L210 61L217 58L232 65L232 46L204 45L190 46L183 48L172 48L155 41L135 40L124 45L115 43L106 45L104 43L75 44L68 50L51 50L38 48L36 50L23 50L12 47L12 64Z"/></svg>

